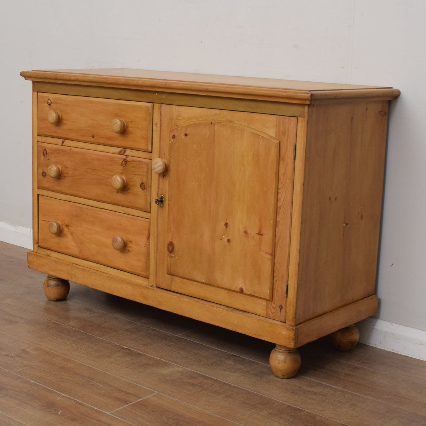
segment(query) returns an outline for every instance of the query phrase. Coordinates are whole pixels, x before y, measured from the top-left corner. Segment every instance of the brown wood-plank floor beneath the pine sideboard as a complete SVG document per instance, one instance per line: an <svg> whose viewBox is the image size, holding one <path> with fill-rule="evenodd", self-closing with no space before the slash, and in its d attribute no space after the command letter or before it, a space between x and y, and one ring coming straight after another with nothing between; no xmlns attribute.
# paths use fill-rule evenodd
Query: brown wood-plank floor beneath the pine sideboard
<svg viewBox="0 0 426 426"><path fill-rule="evenodd" d="M49 302L0 242L0 425L426 425L426 362L328 337L290 380L273 345L71 283Z"/></svg>

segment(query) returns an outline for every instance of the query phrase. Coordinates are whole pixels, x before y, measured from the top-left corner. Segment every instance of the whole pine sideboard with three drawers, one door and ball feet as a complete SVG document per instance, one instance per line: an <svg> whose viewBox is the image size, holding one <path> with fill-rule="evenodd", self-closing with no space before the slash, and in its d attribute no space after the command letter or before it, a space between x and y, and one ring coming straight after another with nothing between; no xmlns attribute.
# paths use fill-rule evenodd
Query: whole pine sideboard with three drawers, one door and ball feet
<svg viewBox="0 0 426 426"><path fill-rule="evenodd" d="M32 81L29 268L276 344L278 377L373 315L399 91L132 69ZM143 309L143 308L141 308Z"/></svg>

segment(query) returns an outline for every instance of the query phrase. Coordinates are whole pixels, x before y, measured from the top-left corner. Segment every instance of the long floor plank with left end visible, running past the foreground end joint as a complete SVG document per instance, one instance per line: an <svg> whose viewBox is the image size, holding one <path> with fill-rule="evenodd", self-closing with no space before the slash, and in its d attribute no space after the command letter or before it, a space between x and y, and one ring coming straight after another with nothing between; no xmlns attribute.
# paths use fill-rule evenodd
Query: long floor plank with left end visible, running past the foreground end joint
<svg viewBox="0 0 426 426"><path fill-rule="evenodd" d="M236 423L253 426L282 425L285 421L301 426L341 424L45 318L9 325L3 327L2 332ZM161 333L163 345L168 346L173 335L156 332ZM265 374L271 376L268 371Z"/></svg>

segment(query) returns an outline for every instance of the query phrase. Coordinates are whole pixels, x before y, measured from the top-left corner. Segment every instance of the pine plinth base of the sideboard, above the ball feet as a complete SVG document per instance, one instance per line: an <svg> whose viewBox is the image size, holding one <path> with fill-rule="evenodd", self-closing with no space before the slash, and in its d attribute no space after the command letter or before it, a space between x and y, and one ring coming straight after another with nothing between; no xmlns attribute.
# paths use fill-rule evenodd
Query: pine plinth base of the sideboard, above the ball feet
<svg viewBox="0 0 426 426"><path fill-rule="evenodd" d="M69 281L90 285L110 294L183 314L196 320L225 326L231 330L273 343L280 342L283 346L288 347L295 347L318 339L324 334L349 325L354 318L361 320L374 314L377 309L377 296L372 296L293 328L275 320L236 311L223 305L216 305L167 291L158 291L158 289L134 280L126 280L125 277L121 277L118 285L117 280L110 274L79 265L69 265L66 261L48 256L29 253L28 260L29 267L37 271L53 273Z"/></svg>

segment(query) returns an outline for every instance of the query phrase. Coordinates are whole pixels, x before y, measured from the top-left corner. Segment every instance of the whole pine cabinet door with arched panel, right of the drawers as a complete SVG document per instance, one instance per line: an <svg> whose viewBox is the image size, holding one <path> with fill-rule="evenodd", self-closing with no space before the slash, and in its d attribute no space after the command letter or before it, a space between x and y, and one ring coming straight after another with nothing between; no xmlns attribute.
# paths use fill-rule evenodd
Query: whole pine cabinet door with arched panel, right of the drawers
<svg viewBox="0 0 426 426"><path fill-rule="evenodd" d="M159 287L261 315L285 306L296 123L161 107Z"/></svg>

